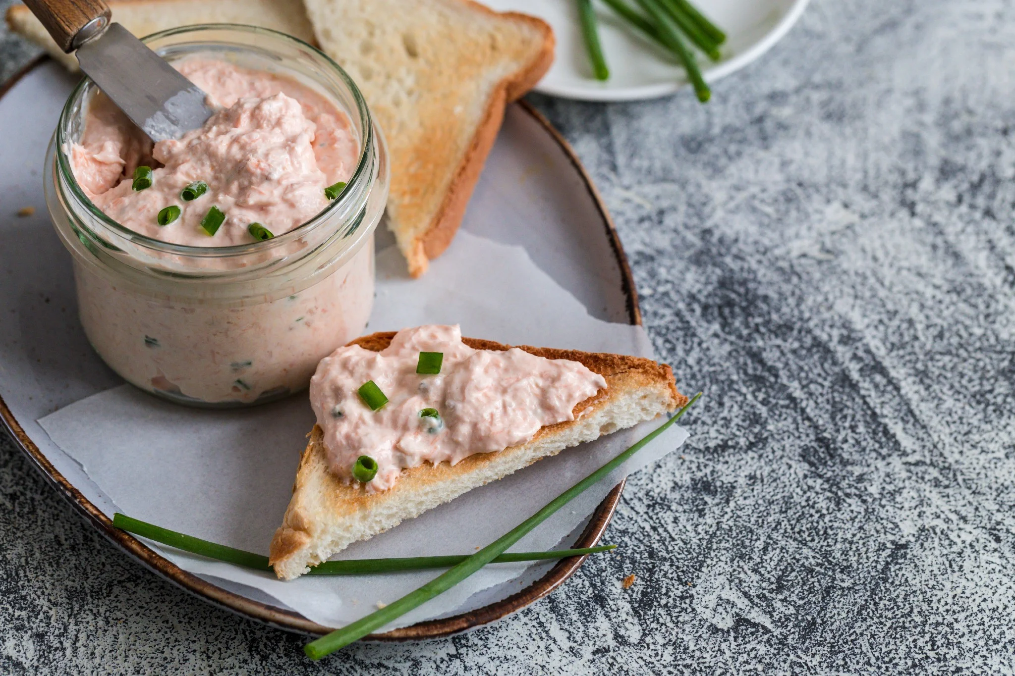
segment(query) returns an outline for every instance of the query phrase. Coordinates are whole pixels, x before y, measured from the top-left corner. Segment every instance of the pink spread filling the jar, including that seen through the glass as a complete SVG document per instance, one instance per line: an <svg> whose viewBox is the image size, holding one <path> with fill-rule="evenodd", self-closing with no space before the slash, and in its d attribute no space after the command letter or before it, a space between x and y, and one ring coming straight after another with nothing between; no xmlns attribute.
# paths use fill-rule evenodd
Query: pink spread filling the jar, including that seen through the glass
<svg viewBox="0 0 1015 676"><path fill-rule="evenodd" d="M195 28L209 30L228 44L232 33L243 42L256 29ZM192 39L184 31L163 40ZM100 92L87 106L68 106L79 112L65 112L58 129L80 189L60 183L58 193L87 227L75 228L63 205L54 203L50 213L74 257L85 333L125 379L184 403L255 403L307 387L318 362L362 331L373 306L373 232L389 179L383 140L330 60L282 35L258 40L269 54L295 49L299 68L289 72L300 80L285 75L290 57L265 60L258 52L247 59L242 46L245 63L282 74L203 53L176 61L216 109L179 140L153 145ZM83 117L79 136L80 119L72 125L68 115ZM135 191L138 166L151 167L151 184ZM184 189L195 181L206 190L185 200ZM339 181L351 181L342 196L348 207L322 215L334 198L325 189ZM138 243L108 226L84 199L157 242ZM180 215L161 225L157 216L166 207ZM214 234L201 223L211 207L225 215ZM291 234L259 241L251 223L276 238ZM209 248L234 245L247 248Z"/></svg>

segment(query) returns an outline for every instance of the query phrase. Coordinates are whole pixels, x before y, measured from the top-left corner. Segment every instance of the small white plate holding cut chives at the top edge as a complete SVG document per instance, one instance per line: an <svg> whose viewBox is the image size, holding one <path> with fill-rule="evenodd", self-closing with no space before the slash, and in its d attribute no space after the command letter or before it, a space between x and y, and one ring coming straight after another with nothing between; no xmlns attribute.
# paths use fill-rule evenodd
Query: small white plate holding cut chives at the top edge
<svg viewBox="0 0 1015 676"><path fill-rule="evenodd" d="M633 0L627 0L633 4ZM727 34L718 63L698 54L701 73L708 82L740 70L768 51L785 35L807 6L808 0L694 0ZM498 11L539 16L557 39L553 66L537 91L587 101L629 101L671 94L687 84L683 67L671 60L631 28L602 2L595 2L599 34L610 79L592 76L582 40L576 0L486 0Z"/></svg>

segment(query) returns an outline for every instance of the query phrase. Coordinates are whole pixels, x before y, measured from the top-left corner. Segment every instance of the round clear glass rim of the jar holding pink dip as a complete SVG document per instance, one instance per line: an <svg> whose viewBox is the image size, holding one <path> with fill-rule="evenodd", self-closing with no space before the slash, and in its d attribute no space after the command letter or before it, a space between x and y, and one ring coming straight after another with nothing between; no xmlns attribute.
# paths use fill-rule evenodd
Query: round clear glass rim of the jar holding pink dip
<svg viewBox="0 0 1015 676"><path fill-rule="evenodd" d="M327 66L334 69L335 74L338 75L339 79L346 87L348 87L349 92L352 94L352 98L356 103L356 112L359 115L361 128L359 134L359 157L356 160L356 168L349 177L346 189L343 190L342 194L337 199L333 200L331 204L321 210L313 218L300 223L292 230L280 235L275 235L271 239L250 242L247 244L232 244L230 246L191 246L188 244L175 244L166 242L161 239L143 235L136 230L132 230L110 218L104 211L94 205L87 195L85 195L84 191L77 182L77 177L71 169L70 158L64 151L65 145L69 142L69 139L67 139L66 136L66 130L69 126L68 123L73 111L74 103L83 96L85 89L89 86L97 88L94 81L87 76L83 76L81 81L78 82L73 91L71 91L70 96L67 97L67 102L64 103L63 109L60 112L60 119L57 122L55 150L57 166L60 168L60 173L66 180L66 184L70 187L74 198L80 201L81 205L84 206L93 217L98 219L105 225L113 228L118 234L126 236L147 248L166 253L177 253L195 257L215 257L253 253L267 248L274 248L283 245L286 242L296 240L304 236L308 231L314 230L317 225L327 221L332 214L339 211L340 207L344 207L349 200L354 199L357 191L350 189L352 189L354 184L358 184L358 182L362 179L362 176L366 173L369 165L371 148L376 143L373 118L370 117L369 109L366 106L366 101L353 79L349 77L349 74L346 73L334 59L306 41L272 28L264 28L244 23L197 23L193 25L168 28L166 30L159 30L149 35L145 35L141 39L141 42L147 44L151 41L163 37L171 37L182 33L196 34L204 30L233 30L236 32L263 34L273 39L279 39L283 42L288 42L295 46L310 50L316 56L320 57ZM213 43L209 45L213 45Z"/></svg>

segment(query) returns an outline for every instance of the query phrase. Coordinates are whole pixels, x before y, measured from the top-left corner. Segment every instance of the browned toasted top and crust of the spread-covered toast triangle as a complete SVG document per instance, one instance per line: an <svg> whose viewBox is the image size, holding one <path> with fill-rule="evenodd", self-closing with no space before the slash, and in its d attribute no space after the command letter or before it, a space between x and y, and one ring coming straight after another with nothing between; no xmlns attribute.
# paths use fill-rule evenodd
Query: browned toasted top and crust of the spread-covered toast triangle
<svg viewBox="0 0 1015 676"><path fill-rule="evenodd" d="M365 350L380 352L391 344L394 332L379 332L365 335L352 342ZM509 350L506 346L493 341L463 339L463 342L477 350ZM344 483L328 469L328 461L324 448L324 433L320 427L314 426L310 442L303 450L296 471L293 485L293 496L285 511L282 525L272 539L270 562L275 567L276 574L283 579L291 579L300 575L306 566L319 562L314 556L308 555L308 549L315 542L315 515L327 514L336 520L349 523L359 519L368 519L371 514L391 510L406 496L416 496L435 485L453 482L463 476L487 472L492 466L531 464L540 457L531 455L531 447L538 445L542 438L553 438L554 435L594 416L596 409L605 408L623 393L649 392L665 401L662 406L674 410L687 402L687 397L677 391L673 382L673 373L665 364L658 364L650 359L626 357L602 353L587 353L576 350L553 350L548 348L533 348L519 346L526 352L547 359L568 359L581 362L590 370L601 374L607 382L607 387L574 406L576 421L557 423L541 428L533 439L525 444L513 446L494 453L476 453L456 465L442 462L437 465L424 463L418 467L403 470L398 482L392 489L381 493L367 494L362 485ZM579 415L582 419L579 419ZM554 452L546 453L552 455ZM506 473L511 473L511 468ZM394 525L394 524L392 524ZM370 534L377 534L374 531ZM369 535L367 535L368 537ZM344 546L344 545L343 545Z"/></svg>

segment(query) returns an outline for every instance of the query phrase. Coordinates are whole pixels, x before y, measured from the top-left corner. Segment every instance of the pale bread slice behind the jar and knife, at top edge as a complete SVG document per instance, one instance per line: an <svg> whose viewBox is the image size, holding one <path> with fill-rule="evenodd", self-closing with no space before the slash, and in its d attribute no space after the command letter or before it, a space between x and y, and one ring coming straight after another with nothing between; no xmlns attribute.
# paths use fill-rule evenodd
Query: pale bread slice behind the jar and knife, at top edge
<svg viewBox="0 0 1015 676"><path fill-rule="evenodd" d="M192 23L247 23L314 42L301 0L107 0L106 4L113 10L113 20L139 37ZM24 5L7 8L7 25L67 68L77 70L77 59L57 47Z"/></svg>

